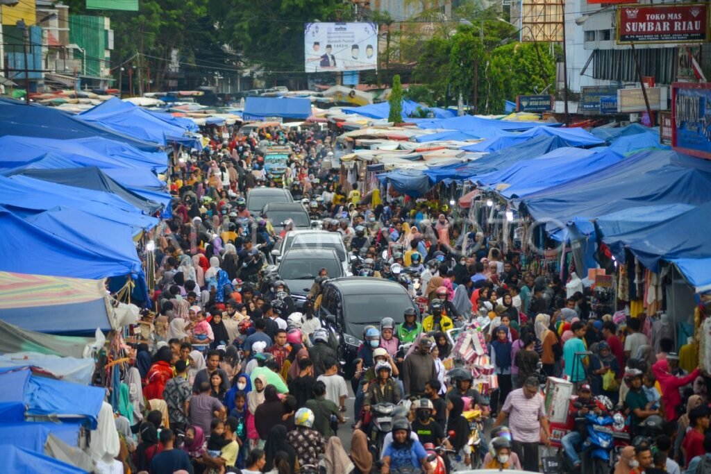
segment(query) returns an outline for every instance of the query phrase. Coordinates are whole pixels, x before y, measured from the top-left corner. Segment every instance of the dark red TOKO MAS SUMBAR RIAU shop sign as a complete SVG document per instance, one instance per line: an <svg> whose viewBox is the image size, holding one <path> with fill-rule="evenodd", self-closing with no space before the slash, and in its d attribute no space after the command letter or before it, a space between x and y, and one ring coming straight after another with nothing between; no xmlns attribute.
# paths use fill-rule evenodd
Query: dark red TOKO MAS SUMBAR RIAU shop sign
<svg viewBox="0 0 711 474"><path fill-rule="evenodd" d="M617 43L705 43L708 4L629 5L617 9Z"/></svg>

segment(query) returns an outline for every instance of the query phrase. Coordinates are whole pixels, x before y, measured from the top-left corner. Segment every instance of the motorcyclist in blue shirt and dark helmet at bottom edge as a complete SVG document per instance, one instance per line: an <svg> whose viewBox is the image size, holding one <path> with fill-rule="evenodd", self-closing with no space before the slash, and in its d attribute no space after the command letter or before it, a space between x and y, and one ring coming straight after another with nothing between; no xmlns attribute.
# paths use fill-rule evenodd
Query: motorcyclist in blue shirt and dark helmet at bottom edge
<svg viewBox="0 0 711 474"><path fill-rule="evenodd" d="M405 418L398 418L392 422L392 443L385 447L383 444L383 467L380 473L388 474L404 470L422 469L427 474L434 472L432 463L427 462L427 451L422 443L411 437L412 429Z"/></svg>

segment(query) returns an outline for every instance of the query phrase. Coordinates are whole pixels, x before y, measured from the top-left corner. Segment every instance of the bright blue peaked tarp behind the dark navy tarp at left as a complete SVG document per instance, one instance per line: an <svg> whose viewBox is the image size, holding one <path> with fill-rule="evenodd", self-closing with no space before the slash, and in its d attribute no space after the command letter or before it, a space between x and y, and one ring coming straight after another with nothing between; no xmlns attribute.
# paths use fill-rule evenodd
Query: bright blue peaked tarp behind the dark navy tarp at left
<svg viewBox="0 0 711 474"><path fill-rule="evenodd" d="M117 97L82 112L77 118L82 122L100 124L107 129L161 145L174 142L198 150L202 148L197 139L185 135L186 129L169 124L141 107L123 102Z"/></svg>

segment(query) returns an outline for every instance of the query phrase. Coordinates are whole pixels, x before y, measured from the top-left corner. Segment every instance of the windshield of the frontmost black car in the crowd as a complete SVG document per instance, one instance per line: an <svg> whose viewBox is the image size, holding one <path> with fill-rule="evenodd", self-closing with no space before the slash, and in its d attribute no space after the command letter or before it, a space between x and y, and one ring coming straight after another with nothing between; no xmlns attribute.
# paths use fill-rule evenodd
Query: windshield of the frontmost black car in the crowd
<svg viewBox="0 0 711 474"><path fill-rule="evenodd" d="M379 325L380 320L390 317L395 324L404 321L405 308L413 308L405 292L346 296L346 332L360 338L366 325Z"/></svg>

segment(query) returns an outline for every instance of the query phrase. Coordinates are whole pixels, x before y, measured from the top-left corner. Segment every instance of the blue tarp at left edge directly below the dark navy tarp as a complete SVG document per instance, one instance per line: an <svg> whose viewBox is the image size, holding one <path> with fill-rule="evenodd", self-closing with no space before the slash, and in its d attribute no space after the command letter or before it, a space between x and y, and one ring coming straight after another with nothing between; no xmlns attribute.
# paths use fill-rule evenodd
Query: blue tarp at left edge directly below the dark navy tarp
<svg viewBox="0 0 711 474"><path fill-rule="evenodd" d="M43 153L55 153L73 163L99 166L104 170L144 168L162 173L168 168L166 153L148 153L105 139L78 141L12 135L0 137L0 163L28 161Z"/></svg>

